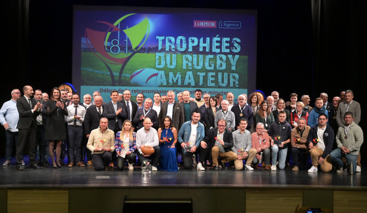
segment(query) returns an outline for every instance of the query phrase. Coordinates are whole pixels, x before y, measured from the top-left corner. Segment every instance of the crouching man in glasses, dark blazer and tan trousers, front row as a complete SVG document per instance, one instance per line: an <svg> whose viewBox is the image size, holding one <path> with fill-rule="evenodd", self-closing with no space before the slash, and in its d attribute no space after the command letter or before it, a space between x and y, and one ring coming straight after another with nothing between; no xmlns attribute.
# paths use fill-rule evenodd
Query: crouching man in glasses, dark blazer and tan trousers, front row
<svg viewBox="0 0 367 213"><path fill-rule="evenodd" d="M219 119L217 126L208 131L203 141L201 141L201 147L209 147L211 150L211 157L213 159L213 170L218 171L218 157L222 160L222 169L225 169L225 163L236 160L237 155L232 151L233 137L232 131L227 129L227 123L224 119Z"/></svg>

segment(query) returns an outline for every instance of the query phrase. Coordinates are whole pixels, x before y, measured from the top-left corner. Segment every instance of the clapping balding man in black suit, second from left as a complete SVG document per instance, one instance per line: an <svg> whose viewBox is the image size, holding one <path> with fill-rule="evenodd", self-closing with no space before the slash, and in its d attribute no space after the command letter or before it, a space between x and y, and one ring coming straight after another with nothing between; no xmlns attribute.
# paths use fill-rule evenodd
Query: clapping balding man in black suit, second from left
<svg viewBox="0 0 367 213"><path fill-rule="evenodd" d="M30 168L42 169L36 164L36 118L40 114L42 105L36 102L32 97L33 88L31 86L23 87L23 97L17 100L17 109L19 113L19 120L17 129L19 130L19 142L17 145L17 170L24 171L22 166L23 149L28 143Z"/></svg>

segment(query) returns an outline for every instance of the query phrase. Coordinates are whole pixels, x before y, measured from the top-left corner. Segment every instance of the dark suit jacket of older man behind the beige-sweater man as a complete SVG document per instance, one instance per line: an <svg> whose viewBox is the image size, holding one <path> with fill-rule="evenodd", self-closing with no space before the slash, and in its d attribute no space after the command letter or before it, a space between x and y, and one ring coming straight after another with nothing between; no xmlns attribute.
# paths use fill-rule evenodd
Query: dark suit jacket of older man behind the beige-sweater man
<svg viewBox="0 0 367 213"><path fill-rule="evenodd" d="M97 129L99 127L99 120L105 117L107 118L107 109L105 106L102 105L102 115L98 114L97 108L95 105L89 107L87 109L86 115L84 116L84 134L88 135L91 134L91 131ZM116 113L115 113L116 115Z"/></svg>

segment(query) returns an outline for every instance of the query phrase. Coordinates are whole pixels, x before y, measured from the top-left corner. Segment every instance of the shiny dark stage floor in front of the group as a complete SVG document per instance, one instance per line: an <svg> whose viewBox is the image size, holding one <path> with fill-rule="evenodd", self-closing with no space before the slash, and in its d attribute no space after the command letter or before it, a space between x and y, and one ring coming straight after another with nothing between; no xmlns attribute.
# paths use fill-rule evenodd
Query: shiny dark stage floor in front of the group
<svg viewBox="0 0 367 213"><path fill-rule="evenodd" d="M1 159L3 162L4 159ZM291 168L267 171L263 168L254 171L234 168L205 171L192 168L179 172L142 172L140 167L134 170L118 171L109 168L95 171L90 166L72 168L65 164L62 169L51 166L43 169L30 169L27 159L25 172L12 165L1 166L0 188L12 187L311 187L311 188L360 188L367 189L367 168L353 175L344 173L308 173L307 170L292 172Z"/></svg>

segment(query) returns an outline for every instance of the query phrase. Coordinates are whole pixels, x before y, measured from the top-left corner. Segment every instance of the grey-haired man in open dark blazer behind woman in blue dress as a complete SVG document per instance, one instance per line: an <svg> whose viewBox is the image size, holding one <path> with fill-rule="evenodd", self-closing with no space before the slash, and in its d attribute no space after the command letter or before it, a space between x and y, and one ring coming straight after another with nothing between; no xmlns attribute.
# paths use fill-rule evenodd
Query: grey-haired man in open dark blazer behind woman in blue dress
<svg viewBox="0 0 367 213"><path fill-rule="evenodd" d="M175 101L175 92L169 90L167 92L168 101L162 103L161 111L158 116L158 123L162 123L164 116L168 115L171 117L173 126L179 131L185 120L185 112L183 106Z"/></svg>

